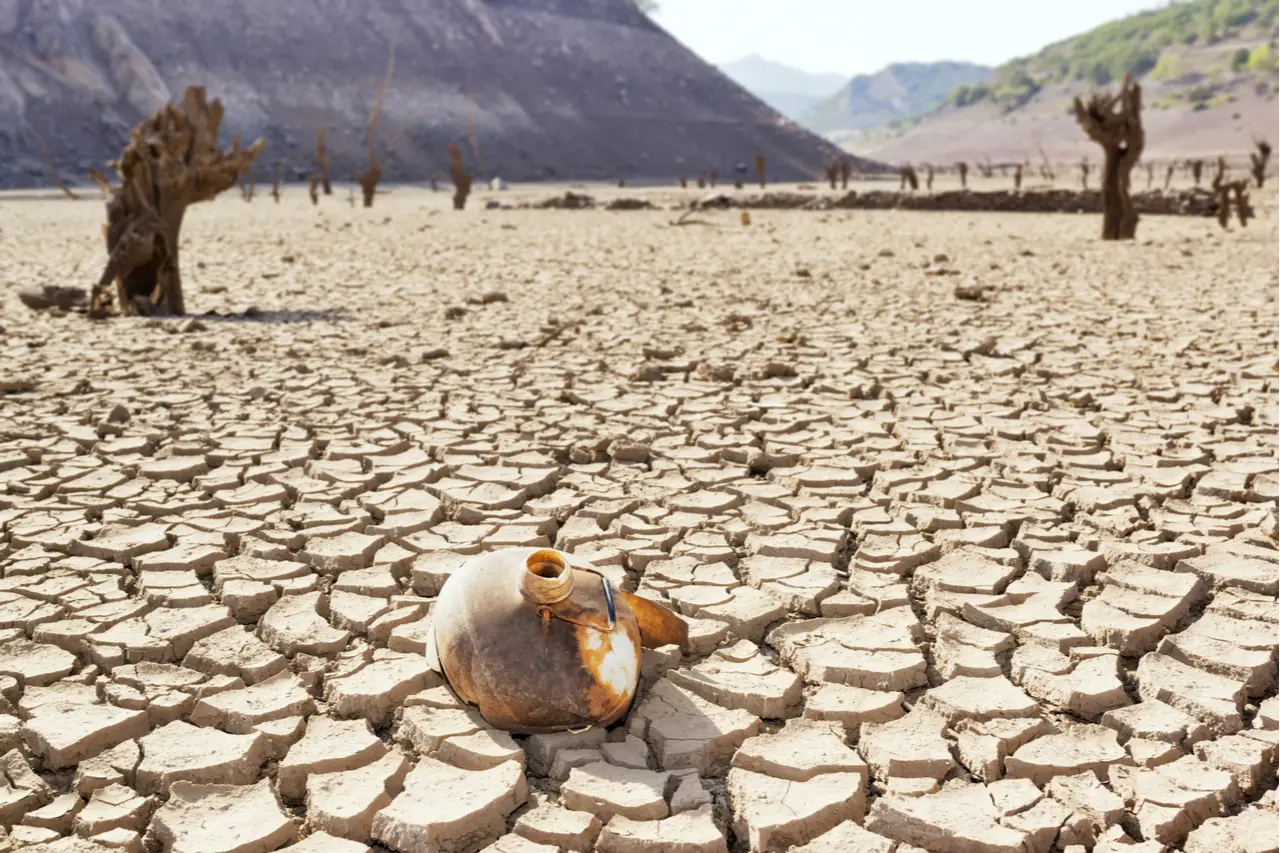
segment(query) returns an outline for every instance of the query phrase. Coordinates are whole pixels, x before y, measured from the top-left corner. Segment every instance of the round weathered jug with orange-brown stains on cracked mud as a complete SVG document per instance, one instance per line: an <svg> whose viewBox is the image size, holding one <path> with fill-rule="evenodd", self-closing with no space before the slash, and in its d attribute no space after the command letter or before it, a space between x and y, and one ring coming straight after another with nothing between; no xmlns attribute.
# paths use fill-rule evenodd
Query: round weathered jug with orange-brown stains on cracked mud
<svg viewBox="0 0 1280 853"><path fill-rule="evenodd" d="M622 592L571 555L507 548L440 589L426 656L493 726L538 734L607 726L631 707L640 649L689 644L662 605Z"/></svg>

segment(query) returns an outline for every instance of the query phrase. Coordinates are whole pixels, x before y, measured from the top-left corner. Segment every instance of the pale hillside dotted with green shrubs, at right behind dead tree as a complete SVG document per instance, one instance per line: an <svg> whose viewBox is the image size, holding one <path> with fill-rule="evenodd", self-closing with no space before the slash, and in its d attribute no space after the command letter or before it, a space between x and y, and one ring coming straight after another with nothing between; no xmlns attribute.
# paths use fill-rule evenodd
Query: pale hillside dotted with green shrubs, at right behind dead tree
<svg viewBox="0 0 1280 853"><path fill-rule="evenodd" d="M1126 73L1144 90L1147 156L1216 156L1275 141L1277 0L1192 0L1108 22L957 86L946 102L855 140L893 161L1052 159L1097 154L1071 100Z"/></svg>

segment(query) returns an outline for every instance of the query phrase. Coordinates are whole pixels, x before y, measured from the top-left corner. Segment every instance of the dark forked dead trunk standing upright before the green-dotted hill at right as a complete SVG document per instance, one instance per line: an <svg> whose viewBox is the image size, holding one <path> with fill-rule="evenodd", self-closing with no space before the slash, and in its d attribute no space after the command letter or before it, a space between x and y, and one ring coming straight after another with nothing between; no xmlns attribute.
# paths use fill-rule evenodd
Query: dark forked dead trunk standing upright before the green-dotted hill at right
<svg viewBox="0 0 1280 853"><path fill-rule="evenodd" d="M1075 120L1102 146L1102 240L1133 240L1138 210L1129 197L1129 173L1142 158L1142 87L1125 74L1120 91L1096 92L1084 104L1075 99Z"/></svg>

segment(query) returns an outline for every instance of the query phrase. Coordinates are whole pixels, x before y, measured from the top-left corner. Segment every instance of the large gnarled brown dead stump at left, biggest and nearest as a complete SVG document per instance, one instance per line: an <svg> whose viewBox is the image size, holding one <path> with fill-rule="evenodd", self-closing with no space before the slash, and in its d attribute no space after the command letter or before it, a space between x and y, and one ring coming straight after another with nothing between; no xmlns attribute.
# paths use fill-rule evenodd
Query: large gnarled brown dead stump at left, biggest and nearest
<svg viewBox="0 0 1280 853"><path fill-rule="evenodd" d="M129 134L116 170L120 187L106 202L106 269L90 297L90 316L102 316L115 282L122 314L183 314L178 232L187 207L236 186L266 147L237 141L218 147L223 104L191 86L182 106L166 104Z"/></svg>

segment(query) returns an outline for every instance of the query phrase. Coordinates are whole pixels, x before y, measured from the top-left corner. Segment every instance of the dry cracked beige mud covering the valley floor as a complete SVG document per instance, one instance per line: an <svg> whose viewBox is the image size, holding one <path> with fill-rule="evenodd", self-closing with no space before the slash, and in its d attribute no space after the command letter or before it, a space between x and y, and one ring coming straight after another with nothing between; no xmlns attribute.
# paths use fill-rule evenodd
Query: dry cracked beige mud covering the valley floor
<svg viewBox="0 0 1280 853"><path fill-rule="evenodd" d="M104 323L12 292L96 279L100 204L0 201L10 847L1276 850L1274 201L1105 245L445 195L223 197L212 314ZM692 653L488 727L422 649L507 546Z"/></svg>

